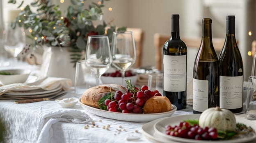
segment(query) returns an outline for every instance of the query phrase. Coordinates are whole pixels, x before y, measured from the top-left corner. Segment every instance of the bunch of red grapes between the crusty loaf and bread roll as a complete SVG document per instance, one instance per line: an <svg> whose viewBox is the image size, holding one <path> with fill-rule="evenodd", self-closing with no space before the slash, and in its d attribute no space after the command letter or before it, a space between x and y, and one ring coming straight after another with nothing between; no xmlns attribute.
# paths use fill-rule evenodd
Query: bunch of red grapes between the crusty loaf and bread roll
<svg viewBox="0 0 256 143"><path fill-rule="evenodd" d="M143 106L149 98L162 96L158 90L151 91L146 85L143 85L140 90L137 87L135 89L137 89L135 93L116 91L114 99L105 100L107 110L122 113L143 113Z"/></svg>

